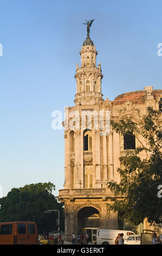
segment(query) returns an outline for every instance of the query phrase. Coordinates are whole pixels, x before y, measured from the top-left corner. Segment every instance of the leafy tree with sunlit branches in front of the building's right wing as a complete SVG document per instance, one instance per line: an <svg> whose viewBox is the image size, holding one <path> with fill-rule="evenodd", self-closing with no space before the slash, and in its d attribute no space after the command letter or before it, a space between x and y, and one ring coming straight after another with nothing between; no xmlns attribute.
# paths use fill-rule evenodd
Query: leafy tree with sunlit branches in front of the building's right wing
<svg viewBox="0 0 162 256"><path fill-rule="evenodd" d="M120 161L124 168L118 168L120 182L109 182L108 187L114 192L110 210L118 212L119 218L138 225L147 218L153 223L162 223L162 198L158 197L158 185L162 185L162 133L161 109L147 108L141 123L130 118L121 119L119 123L111 122L114 131L120 135L133 135L139 147L131 150ZM141 159L140 153L146 157Z"/></svg>

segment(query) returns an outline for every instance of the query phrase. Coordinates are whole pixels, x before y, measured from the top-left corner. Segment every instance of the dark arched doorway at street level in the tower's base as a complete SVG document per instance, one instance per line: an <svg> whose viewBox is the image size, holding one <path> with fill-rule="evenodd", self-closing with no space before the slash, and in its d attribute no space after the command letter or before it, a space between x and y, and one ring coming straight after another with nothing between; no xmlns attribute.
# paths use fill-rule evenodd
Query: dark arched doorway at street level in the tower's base
<svg viewBox="0 0 162 256"><path fill-rule="evenodd" d="M93 207L84 207L77 213L77 232L88 234L90 242L95 241L96 231L100 228L100 212Z"/></svg>

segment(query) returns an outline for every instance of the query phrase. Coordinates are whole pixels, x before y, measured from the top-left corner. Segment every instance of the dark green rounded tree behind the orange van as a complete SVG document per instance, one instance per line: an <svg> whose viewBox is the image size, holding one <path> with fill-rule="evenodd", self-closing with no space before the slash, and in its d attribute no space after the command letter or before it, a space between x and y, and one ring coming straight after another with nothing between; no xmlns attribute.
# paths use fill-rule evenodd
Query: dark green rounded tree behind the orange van
<svg viewBox="0 0 162 256"><path fill-rule="evenodd" d="M60 211L60 230L64 229L63 204L52 194L55 185L51 182L12 188L7 197L0 199L1 222L34 221L38 232L57 230L57 212L45 214L46 210Z"/></svg>

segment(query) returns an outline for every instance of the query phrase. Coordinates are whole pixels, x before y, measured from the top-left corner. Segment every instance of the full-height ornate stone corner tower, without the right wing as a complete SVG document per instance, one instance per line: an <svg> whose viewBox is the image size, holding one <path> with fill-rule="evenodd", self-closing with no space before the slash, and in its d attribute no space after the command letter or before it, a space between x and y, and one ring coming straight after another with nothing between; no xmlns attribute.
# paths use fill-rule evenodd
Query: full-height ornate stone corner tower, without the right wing
<svg viewBox="0 0 162 256"><path fill-rule="evenodd" d="M88 26L88 25L87 25ZM101 93L101 65L96 66L93 41L81 46L81 66L76 65L75 106L66 108L64 120L65 181L59 199L65 207L66 240L84 230L94 241L98 228L118 228L113 214L108 218L105 202L108 180L113 180L113 135L107 130L112 102ZM107 120L106 120L107 117ZM108 150L109 148L109 150Z"/></svg>

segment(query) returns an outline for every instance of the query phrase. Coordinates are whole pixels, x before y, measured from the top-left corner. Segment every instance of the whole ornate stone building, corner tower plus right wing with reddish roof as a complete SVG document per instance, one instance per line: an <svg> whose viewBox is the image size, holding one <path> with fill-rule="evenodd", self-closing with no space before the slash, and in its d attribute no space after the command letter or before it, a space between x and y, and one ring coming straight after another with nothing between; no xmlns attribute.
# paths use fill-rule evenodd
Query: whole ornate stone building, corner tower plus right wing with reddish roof
<svg viewBox="0 0 162 256"><path fill-rule="evenodd" d="M73 232L85 230L93 241L98 228L119 229L118 214L108 211L111 202L107 197L113 194L107 182L119 182L119 157L133 149L125 148L123 136L106 130L106 124L109 127L106 117L114 121L129 117L138 123L148 106L158 108L158 100L162 97L162 90L148 86L144 90L121 94L114 101L103 100L103 75L100 63L96 66L97 54L92 44L81 47L81 66L76 65L75 74L75 106L66 108L63 122L65 180L59 200L64 203L65 235L69 241ZM134 143L138 147L139 142ZM141 157L145 157L144 153Z"/></svg>

